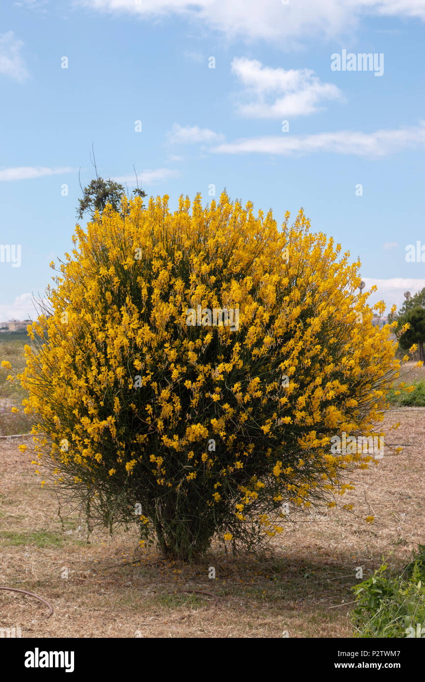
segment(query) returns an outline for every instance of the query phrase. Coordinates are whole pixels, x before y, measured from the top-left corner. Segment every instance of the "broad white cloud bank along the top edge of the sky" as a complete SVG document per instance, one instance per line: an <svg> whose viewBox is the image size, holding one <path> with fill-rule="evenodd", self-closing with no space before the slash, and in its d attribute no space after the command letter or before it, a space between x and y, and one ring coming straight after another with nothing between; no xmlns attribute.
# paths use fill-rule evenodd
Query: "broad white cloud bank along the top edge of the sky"
<svg viewBox="0 0 425 682"><path fill-rule="evenodd" d="M425 20L424 0L74 0L104 12L143 18L184 16L247 40L276 40L291 49L309 36L323 39L352 33L366 16Z"/></svg>

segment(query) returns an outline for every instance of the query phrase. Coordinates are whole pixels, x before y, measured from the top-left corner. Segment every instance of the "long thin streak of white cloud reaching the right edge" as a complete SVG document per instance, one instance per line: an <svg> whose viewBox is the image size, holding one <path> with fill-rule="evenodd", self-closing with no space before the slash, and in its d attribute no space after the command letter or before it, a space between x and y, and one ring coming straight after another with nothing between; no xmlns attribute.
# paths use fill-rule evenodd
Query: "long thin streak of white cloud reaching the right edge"
<svg viewBox="0 0 425 682"><path fill-rule="evenodd" d="M417 128L377 130L372 133L323 132L312 135L256 137L236 140L212 147L219 154L277 154L295 155L324 151L336 154L353 154L379 158L407 148L425 145L425 123Z"/></svg>

